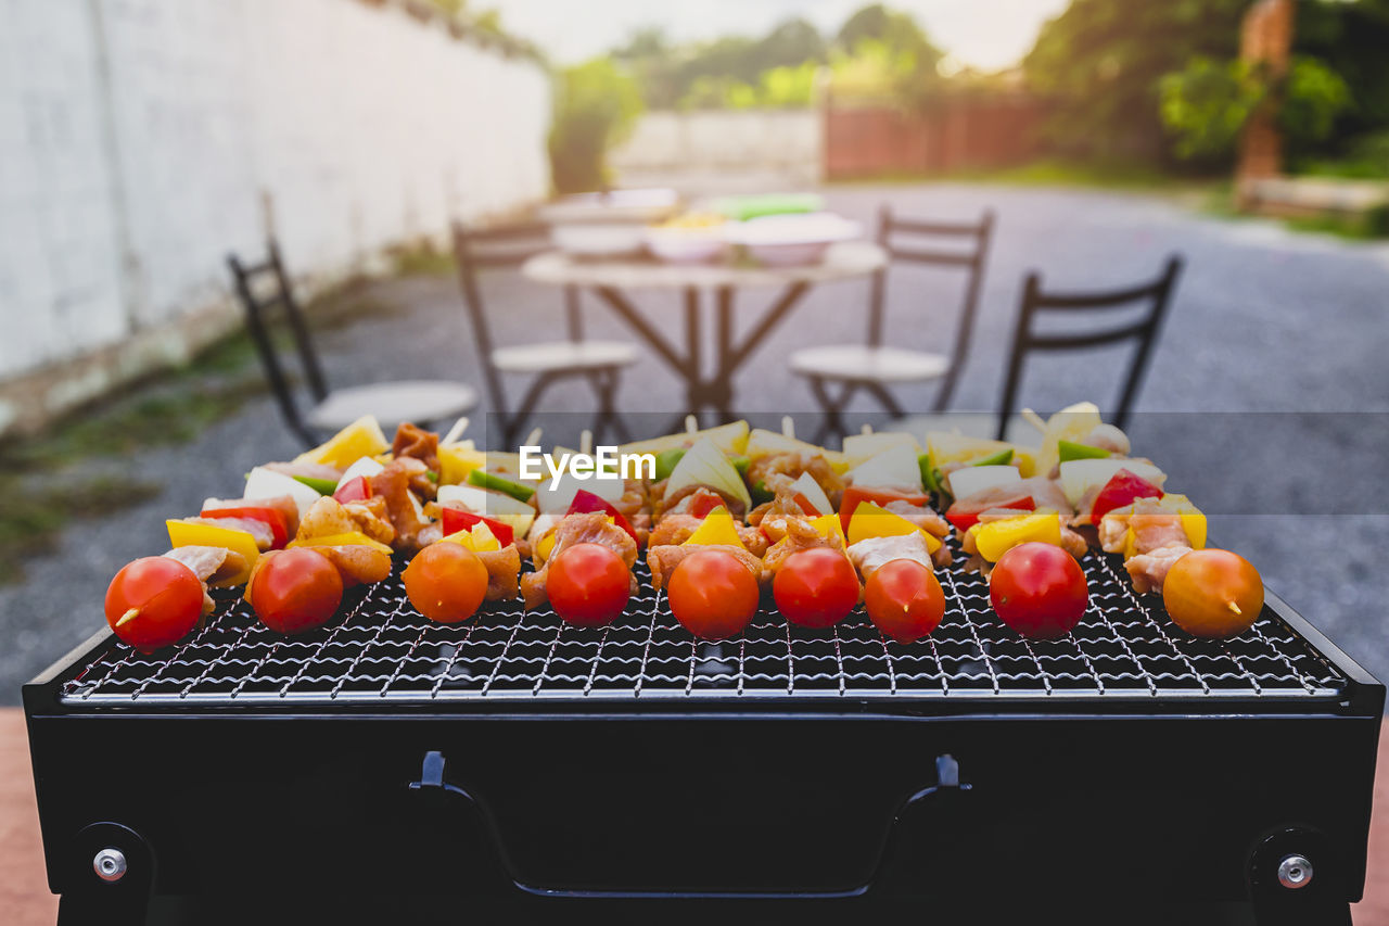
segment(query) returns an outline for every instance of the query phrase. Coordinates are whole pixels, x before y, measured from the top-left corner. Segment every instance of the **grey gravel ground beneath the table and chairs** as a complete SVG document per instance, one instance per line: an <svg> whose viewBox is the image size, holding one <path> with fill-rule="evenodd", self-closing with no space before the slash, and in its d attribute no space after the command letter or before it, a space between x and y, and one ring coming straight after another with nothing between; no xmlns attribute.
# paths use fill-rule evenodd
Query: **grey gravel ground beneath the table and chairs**
<svg viewBox="0 0 1389 926"><path fill-rule="evenodd" d="M954 406L993 407L1022 275L1045 273L1056 288L1126 285L1154 275L1165 254L1188 257L1163 341L1131 425L1138 452L1170 471L1213 513L1214 538L1258 566L1268 584L1379 677L1389 677L1389 503L1376 478L1389 457L1389 246L1295 235L1264 222L1193 216L1179 206L1115 193L974 185L851 188L831 207L865 222L890 200L903 214L968 218L999 213L974 349ZM889 339L949 343L960 279L950 271L903 270L889 282ZM454 377L481 385L457 288L446 277L371 286L389 311L325 332L319 348L338 385L381 378ZM556 293L514 277L488 284L497 339L521 341L558 321ZM740 296L739 324L770 292ZM739 406L775 420L813 409L789 377L790 349L863 338L865 282L814 291L738 381ZM639 293L640 304L681 336L672 296ZM504 309L503 309L504 306ZM594 335L626 336L614 318L589 311ZM1122 352L1049 359L1029 367L1026 405L1051 410L1117 398ZM931 388L900 392L926 409ZM579 413L590 396L558 391L547 410ZM622 387L633 430L654 430L679 409L681 391L654 359ZM661 413L640 416L638 413ZM1220 413L1220 414L1217 414ZM951 424L954 424L953 421ZM986 420L958 421L989 428ZM92 466L164 487L146 503L67 530L60 549L26 563L25 581L0 588L0 701L101 623L100 601L126 560L164 549L163 519L208 495L235 494L256 463L297 452L268 398L249 402L196 441Z"/></svg>

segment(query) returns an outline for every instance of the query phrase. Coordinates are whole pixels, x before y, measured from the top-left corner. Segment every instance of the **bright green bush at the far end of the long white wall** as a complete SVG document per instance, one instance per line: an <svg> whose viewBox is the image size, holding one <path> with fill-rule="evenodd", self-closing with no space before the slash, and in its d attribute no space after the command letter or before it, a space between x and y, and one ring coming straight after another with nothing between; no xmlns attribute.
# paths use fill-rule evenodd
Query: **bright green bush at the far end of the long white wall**
<svg viewBox="0 0 1389 926"><path fill-rule="evenodd" d="M610 58L560 71L550 124L556 190L576 193L607 185L607 153L632 131L642 108L636 81Z"/></svg>

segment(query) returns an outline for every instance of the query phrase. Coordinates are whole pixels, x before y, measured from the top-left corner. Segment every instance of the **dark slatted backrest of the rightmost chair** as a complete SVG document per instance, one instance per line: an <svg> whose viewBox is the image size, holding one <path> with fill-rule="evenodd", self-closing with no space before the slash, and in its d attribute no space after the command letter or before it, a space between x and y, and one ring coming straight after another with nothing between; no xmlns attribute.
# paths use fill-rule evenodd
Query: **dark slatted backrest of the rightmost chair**
<svg viewBox="0 0 1389 926"><path fill-rule="evenodd" d="M1138 396L1143 374L1153 355L1153 345L1157 342L1167 306L1172 299L1172 289L1176 278L1182 273L1182 257L1172 254L1167 260L1163 274L1153 282L1128 289L1111 289L1104 292L1042 292L1042 277L1038 273L1028 274L1026 285L1022 289L1022 310L1018 313L1018 327L1013 336L1013 353L1008 359L1008 375L1003 387L1003 400L999 407L999 439L1004 438L1008 419L1013 416L1017 403L1018 385L1022 380L1022 366L1031 350L1075 350L1083 348L1099 348L1120 341L1136 341L1138 348L1129 363L1128 377L1124 380L1124 392L1120 396L1118 413L1114 424L1125 427L1129 409ZM1107 327L1090 334L1038 334L1032 328L1033 318L1046 311L1104 311L1122 309L1135 303L1147 303L1147 311L1138 321L1120 327Z"/></svg>

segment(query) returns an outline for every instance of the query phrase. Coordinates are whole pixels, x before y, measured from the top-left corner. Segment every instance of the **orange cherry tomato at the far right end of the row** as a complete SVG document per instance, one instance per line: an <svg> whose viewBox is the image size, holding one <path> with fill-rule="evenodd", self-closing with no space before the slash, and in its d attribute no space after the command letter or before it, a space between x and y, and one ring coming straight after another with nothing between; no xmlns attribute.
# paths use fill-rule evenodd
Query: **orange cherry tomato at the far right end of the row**
<svg viewBox="0 0 1389 926"><path fill-rule="evenodd" d="M1239 553L1193 549L1168 570L1163 603L1193 637L1238 637L1264 609L1264 580Z"/></svg>

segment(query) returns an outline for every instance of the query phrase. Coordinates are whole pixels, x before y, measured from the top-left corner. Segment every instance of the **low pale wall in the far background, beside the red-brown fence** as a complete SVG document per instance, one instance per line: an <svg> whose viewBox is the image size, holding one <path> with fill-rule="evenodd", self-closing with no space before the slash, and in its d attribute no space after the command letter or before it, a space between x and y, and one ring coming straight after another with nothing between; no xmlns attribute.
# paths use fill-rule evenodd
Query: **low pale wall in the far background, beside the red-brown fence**
<svg viewBox="0 0 1389 926"><path fill-rule="evenodd" d="M804 110L646 113L608 163L628 178L778 175L814 184L821 175L824 121Z"/></svg>

